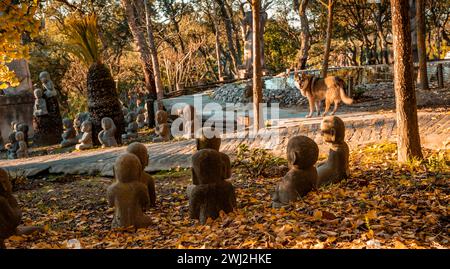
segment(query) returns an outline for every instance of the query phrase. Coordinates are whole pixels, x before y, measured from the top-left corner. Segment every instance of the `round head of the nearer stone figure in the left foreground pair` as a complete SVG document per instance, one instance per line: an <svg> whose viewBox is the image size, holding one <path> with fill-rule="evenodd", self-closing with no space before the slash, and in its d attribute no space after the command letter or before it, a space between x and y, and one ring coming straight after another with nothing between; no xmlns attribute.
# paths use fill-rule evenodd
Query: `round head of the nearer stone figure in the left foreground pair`
<svg viewBox="0 0 450 269"><path fill-rule="evenodd" d="M121 183L130 183L140 179L142 166L139 158L130 153L124 153L117 157L114 163L114 175Z"/></svg>

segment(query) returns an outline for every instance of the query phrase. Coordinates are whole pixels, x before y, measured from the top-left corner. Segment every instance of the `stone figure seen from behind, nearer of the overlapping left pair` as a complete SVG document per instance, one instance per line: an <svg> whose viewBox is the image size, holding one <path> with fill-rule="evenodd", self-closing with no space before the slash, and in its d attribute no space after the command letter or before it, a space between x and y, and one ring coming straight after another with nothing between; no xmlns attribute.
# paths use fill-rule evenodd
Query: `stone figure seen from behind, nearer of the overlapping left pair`
<svg viewBox="0 0 450 269"><path fill-rule="evenodd" d="M134 154L125 153L119 156L114 164L116 181L108 187L107 196L111 207L114 207L113 228L134 226L136 229L151 224L150 217L144 215L150 204L148 189L140 181L141 163Z"/></svg>

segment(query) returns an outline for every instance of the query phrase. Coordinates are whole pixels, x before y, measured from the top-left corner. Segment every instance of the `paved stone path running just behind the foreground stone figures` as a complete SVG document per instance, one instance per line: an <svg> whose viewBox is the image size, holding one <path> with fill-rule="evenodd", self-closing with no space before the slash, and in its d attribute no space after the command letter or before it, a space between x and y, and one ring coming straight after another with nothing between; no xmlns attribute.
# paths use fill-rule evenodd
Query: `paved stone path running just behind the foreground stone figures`
<svg viewBox="0 0 450 269"><path fill-rule="evenodd" d="M376 141L395 141L396 122L394 113L352 113L339 115L346 125L346 140L350 148ZM240 143L247 143L251 148L261 147L274 154L284 156L290 137L306 135L314 139L321 150L326 153L328 147L318 132L321 118L282 119L277 126L263 129L256 138L249 138L248 133L238 133L242 138L225 136L221 151L230 155L236 153ZM450 149L450 113L419 112L421 142L424 147L433 149ZM147 144L150 162L147 171L169 170L171 168L190 167L190 156L195 149L194 140ZM115 158L125 151L125 147L97 149L72 153L38 156L22 160L0 160L4 167L13 174L35 176L38 174L89 174L112 176Z"/></svg>

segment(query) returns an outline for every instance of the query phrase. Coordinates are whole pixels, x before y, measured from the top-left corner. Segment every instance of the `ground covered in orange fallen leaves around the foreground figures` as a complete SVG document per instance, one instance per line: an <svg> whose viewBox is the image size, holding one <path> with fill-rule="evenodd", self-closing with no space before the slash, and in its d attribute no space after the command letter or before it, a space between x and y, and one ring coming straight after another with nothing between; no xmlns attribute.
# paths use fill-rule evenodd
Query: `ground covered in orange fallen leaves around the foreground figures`
<svg viewBox="0 0 450 269"><path fill-rule="evenodd" d="M137 231L110 229L105 192L111 179L22 182L16 195L23 221L46 231L6 244L68 248L76 239L82 248L448 248L450 153L424 150L424 162L400 166L395 151L388 143L353 150L348 180L283 209L271 208L278 176L235 173L238 209L204 226L188 216L186 170L155 176L158 206L147 212L154 224Z"/></svg>

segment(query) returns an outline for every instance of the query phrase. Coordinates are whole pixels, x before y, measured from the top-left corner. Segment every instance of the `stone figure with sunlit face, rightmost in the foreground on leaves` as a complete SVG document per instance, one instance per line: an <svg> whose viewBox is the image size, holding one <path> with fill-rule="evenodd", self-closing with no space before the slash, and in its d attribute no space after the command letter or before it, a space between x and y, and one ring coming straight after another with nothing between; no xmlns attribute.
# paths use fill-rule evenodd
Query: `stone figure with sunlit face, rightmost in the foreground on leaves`
<svg viewBox="0 0 450 269"><path fill-rule="evenodd" d="M331 143L331 148L328 159L317 166L318 185L337 183L350 176L350 150L345 143L345 125L341 118L328 116L323 118L320 129L324 141Z"/></svg>

